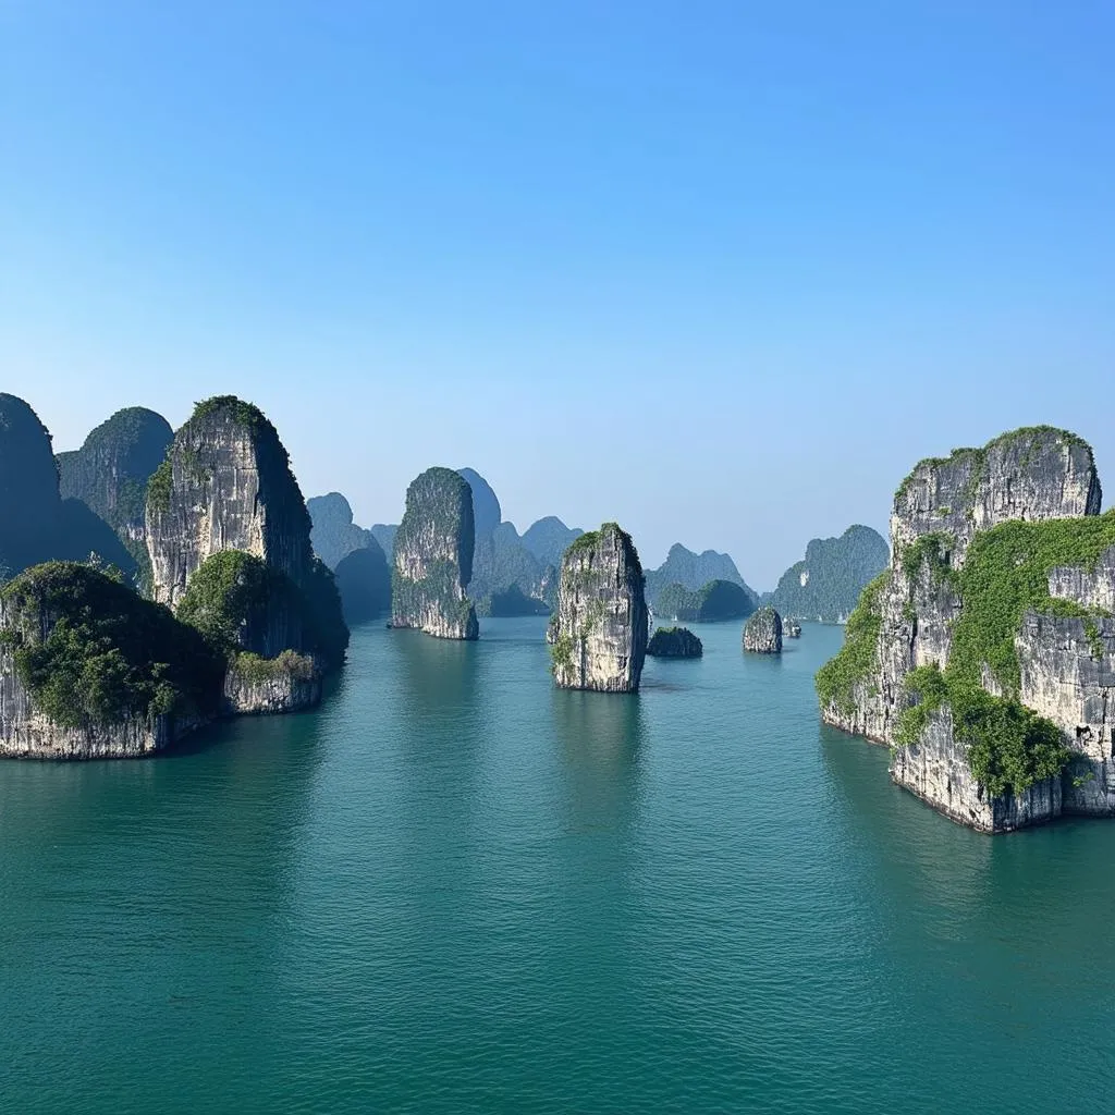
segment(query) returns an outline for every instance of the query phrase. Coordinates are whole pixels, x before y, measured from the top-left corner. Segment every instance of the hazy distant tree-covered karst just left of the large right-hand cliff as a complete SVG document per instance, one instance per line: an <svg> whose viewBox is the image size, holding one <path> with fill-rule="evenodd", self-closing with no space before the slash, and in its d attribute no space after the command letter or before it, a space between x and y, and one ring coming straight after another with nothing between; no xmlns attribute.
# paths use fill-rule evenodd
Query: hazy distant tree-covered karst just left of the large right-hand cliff
<svg viewBox="0 0 1115 1115"><path fill-rule="evenodd" d="M860 593L890 561L886 542L870 526L850 526L838 539L813 539L805 558L782 574L764 602L783 615L843 622Z"/></svg>

